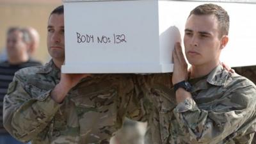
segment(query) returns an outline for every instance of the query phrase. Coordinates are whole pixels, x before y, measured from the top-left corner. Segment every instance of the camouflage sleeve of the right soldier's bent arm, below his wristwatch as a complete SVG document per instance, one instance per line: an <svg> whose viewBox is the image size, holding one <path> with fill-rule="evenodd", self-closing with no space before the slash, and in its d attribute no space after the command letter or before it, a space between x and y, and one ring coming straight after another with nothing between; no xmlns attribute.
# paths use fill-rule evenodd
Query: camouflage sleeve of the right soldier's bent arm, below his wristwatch
<svg viewBox="0 0 256 144"><path fill-rule="evenodd" d="M237 131L248 129L248 125L253 124L255 93L253 86L240 86L225 92L216 104L209 105L210 110L200 109L193 99L186 99L177 105L173 113L181 129L189 132L193 143L220 142L232 139ZM247 143L252 141L252 137L253 134L248 134L247 140L236 143Z"/></svg>

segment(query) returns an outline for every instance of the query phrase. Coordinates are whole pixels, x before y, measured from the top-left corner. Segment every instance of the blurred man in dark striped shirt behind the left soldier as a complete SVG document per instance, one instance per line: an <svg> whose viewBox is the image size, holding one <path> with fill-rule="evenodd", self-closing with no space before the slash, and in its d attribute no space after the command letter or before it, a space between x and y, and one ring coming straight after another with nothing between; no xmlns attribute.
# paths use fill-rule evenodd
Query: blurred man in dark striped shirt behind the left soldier
<svg viewBox="0 0 256 144"><path fill-rule="evenodd" d="M0 143L20 143L8 134L3 127L3 99L8 85L12 82L15 72L20 68L42 65L29 58L28 49L31 41L27 31L17 27L8 29L6 40L7 60L0 63Z"/></svg>

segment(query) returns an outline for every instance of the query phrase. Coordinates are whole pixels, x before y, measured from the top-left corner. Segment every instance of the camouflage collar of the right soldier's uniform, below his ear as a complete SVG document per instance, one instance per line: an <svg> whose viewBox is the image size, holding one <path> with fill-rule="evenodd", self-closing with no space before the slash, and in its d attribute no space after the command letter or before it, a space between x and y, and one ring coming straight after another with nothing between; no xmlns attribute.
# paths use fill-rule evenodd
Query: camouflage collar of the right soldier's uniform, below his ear
<svg viewBox="0 0 256 144"><path fill-rule="evenodd" d="M216 85L216 86L223 86L227 81L228 71L225 70L222 65L218 65L214 68L209 76L207 77L207 82Z"/></svg>

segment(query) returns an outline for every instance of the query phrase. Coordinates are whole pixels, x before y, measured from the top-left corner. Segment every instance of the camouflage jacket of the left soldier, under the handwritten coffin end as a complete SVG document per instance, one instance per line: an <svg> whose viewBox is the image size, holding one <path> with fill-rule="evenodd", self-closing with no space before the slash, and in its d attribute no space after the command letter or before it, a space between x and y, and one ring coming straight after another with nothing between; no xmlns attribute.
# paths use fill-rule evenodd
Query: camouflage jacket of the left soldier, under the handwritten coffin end
<svg viewBox="0 0 256 144"><path fill-rule="evenodd" d="M60 82L60 69L50 61L43 67L15 74L4 97L4 127L20 141L42 143L109 143L124 116L143 120L145 111L134 91L131 75L86 77L62 104L50 97Z"/></svg>

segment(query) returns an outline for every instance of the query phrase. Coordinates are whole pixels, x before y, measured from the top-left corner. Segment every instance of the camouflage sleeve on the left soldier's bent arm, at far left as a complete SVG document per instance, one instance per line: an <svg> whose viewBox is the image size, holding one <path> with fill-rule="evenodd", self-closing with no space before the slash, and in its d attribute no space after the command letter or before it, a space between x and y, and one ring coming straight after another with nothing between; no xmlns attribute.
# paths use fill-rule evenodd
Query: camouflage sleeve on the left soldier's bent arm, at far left
<svg viewBox="0 0 256 144"><path fill-rule="evenodd" d="M50 93L51 90L42 95L29 95L24 83L15 76L4 97L5 129L20 141L29 141L42 132L61 106L52 100Z"/></svg>

